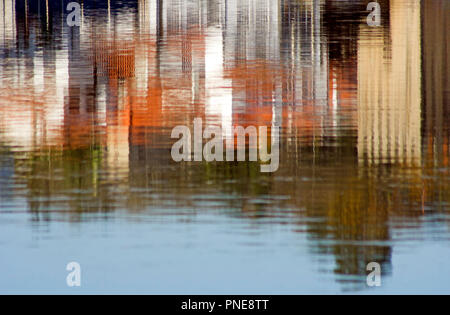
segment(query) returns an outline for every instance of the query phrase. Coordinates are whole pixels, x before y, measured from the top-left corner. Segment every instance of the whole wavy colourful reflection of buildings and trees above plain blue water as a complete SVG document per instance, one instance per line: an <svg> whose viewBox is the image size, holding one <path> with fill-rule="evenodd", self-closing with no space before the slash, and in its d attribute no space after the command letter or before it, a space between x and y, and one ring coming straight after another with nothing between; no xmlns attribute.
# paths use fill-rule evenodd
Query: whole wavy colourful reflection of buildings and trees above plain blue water
<svg viewBox="0 0 450 315"><path fill-rule="evenodd" d="M24 197L35 221L287 224L364 288L425 218L450 222L449 4L380 3L372 28L366 1L84 1L70 28L59 4L0 1L2 201ZM173 162L172 128L196 117L279 123L279 171Z"/></svg>

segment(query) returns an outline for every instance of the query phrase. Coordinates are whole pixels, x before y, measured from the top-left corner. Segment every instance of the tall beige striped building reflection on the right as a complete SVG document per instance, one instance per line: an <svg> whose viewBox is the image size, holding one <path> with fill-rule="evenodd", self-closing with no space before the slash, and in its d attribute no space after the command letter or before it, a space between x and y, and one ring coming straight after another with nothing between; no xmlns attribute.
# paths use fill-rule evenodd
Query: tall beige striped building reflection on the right
<svg viewBox="0 0 450 315"><path fill-rule="evenodd" d="M420 1L390 2L390 37L361 26L358 154L371 163L420 163ZM389 44L390 51L385 46Z"/></svg>

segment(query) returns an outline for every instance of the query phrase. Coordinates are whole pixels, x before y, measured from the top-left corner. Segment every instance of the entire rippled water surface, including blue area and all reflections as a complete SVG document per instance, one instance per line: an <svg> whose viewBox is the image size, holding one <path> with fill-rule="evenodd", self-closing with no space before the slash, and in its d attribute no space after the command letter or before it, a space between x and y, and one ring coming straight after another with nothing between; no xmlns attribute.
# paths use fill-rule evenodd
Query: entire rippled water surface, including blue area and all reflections
<svg viewBox="0 0 450 315"><path fill-rule="evenodd" d="M450 2L378 2L0 1L0 292L450 293Z"/></svg>

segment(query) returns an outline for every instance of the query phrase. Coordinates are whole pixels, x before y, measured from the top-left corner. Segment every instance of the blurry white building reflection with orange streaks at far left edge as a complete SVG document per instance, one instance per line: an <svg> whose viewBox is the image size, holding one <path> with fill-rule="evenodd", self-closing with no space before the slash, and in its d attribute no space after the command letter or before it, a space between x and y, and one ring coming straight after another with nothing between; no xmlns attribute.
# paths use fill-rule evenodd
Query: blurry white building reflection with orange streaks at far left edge
<svg viewBox="0 0 450 315"><path fill-rule="evenodd" d="M36 38L14 34L18 29L37 23L27 15L25 18L16 16L15 1L2 1L1 6L0 49L4 62L0 72L8 73L0 76L0 100L7 105L0 108L1 129L8 141L26 148L60 143L69 85L68 52L45 49L16 52L18 46L36 47ZM61 40L61 45L66 43Z"/></svg>

